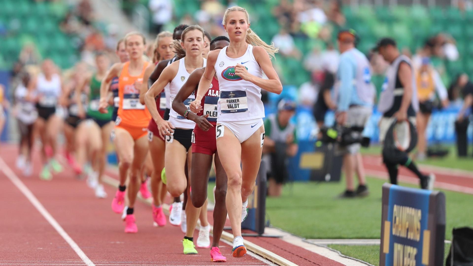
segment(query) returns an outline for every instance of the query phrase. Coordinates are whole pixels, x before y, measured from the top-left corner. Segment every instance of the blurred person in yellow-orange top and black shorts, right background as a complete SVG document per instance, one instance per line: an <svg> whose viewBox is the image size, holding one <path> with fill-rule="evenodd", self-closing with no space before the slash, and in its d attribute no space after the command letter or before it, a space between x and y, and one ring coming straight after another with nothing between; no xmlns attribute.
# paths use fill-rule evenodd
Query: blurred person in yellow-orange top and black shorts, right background
<svg viewBox="0 0 473 266"><path fill-rule="evenodd" d="M427 136L426 129L429 124L430 115L434 108L435 95L442 102L442 106L447 107L448 95L447 89L440 79L438 72L430 65L430 59L424 57L422 65L415 71L415 79L417 84L417 96L419 99L419 111L416 115L418 146L417 146L417 160L426 159L427 151Z"/></svg>

